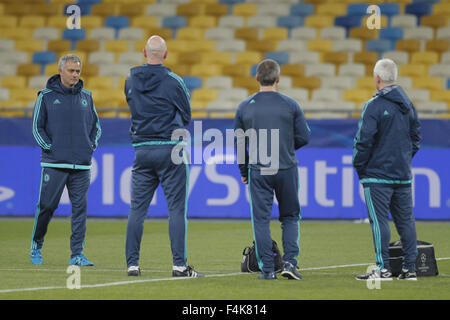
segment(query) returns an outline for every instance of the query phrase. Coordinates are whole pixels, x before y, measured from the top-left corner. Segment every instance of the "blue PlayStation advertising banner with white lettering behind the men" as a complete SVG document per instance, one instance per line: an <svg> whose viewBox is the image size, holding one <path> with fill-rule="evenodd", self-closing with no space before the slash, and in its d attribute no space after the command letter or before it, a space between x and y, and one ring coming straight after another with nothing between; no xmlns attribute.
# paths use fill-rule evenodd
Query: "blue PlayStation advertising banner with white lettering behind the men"
<svg viewBox="0 0 450 320"><path fill-rule="evenodd" d="M299 198L306 219L366 218L362 188L352 167L357 120L310 120L311 142L297 151ZM94 152L88 215L127 217L134 149L129 120L103 119ZM190 158L188 217L249 218L247 187L236 155L228 148L232 120L197 120L188 131ZM423 120L424 141L413 159L413 199L417 219L450 220L450 122ZM30 119L0 119L0 216L34 216L39 197L40 148ZM56 216L69 216L67 191ZM167 217L158 188L151 217ZM273 217L278 216L276 199Z"/></svg>

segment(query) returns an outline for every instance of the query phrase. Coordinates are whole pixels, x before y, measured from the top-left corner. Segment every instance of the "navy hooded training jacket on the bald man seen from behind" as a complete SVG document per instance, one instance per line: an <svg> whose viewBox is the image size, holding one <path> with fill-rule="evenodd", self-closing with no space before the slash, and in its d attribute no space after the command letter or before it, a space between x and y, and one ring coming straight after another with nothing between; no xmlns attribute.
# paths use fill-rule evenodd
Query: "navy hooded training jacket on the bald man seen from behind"
<svg viewBox="0 0 450 320"><path fill-rule="evenodd" d="M170 141L191 120L190 94L183 81L159 64L134 67L125 81L133 146Z"/></svg>

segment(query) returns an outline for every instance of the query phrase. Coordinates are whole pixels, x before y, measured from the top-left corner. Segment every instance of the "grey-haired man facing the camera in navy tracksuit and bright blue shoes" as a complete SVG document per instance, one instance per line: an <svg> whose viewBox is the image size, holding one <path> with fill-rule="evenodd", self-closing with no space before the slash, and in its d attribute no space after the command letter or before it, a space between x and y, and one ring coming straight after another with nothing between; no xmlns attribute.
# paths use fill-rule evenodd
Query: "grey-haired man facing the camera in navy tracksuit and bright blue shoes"
<svg viewBox="0 0 450 320"><path fill-rule="evenodd" d="M42 245L53 212L67 186L72 203L70 265L93 265L82 253L86 233L91 158L101 128L90 91L80 80L81 61L63 56L59 74L40 91L33 111L33 136L41 147L41 186L31 241L31 262L42 264Z"/></svg>

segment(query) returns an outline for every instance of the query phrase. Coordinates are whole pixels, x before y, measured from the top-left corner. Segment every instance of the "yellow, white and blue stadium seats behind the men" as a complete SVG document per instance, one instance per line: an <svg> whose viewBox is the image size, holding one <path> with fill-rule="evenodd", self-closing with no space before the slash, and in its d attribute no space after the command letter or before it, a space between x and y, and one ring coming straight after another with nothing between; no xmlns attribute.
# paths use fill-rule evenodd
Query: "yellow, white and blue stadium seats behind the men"
<svg viewBox="0 0 450 320"><path fill-rule="evenodd" d="M81 8L82 29L66 28L72 3ZM450 3L375 3L380 30L366 27L367 5L350 0L0 0L1 106L29 111L29 90L42 88L58 58L73 52L87 88L99 90L99 114L126 117L123 79L145 61L148 37L159 34L167 66L192 91L193 115L230 117L258 90L256 64L271 58L281 65L279 90L304 104L308 117L359 116L382 57L399 65L399 83L419 114L448 113Z"/></svg>

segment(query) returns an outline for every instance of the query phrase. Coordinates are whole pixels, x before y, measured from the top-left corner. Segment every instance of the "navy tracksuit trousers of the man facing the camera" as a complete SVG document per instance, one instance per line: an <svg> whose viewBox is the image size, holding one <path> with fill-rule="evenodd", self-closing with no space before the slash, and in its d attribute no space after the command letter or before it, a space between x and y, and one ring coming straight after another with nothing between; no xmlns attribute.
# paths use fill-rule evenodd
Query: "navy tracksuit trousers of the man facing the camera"
<svg viewBox="0 0 450 320"><path fill-rule="evenodd" d="M71 258L83 251L86 235L90 170L42 168L39 202L34 219L31 249L41 249L48 224L58 207L64 187L67 186L72 203L70 249Z"/></svg>

